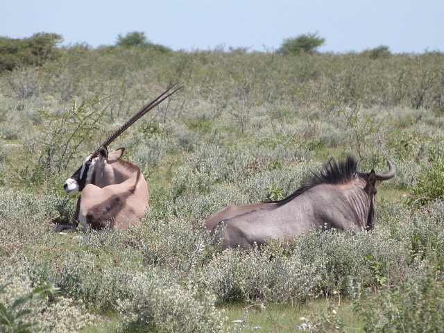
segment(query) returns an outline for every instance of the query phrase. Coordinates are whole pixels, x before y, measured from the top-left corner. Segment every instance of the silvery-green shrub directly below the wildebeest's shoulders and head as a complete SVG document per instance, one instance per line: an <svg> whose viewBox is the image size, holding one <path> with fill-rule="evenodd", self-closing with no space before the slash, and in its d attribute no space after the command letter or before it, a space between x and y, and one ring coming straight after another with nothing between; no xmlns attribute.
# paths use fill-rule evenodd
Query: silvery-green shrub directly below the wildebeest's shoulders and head
<svg viewBox="0 0 444 333"><path fill-rule="evenodd" d="M318 268L316 290L332 296L350 296L350 282L361 286L378 284L377 272L388 283L396 283L407 272L409 256L405 240L392 239L384 228L373 232L312 232L298 237L291 244L293 255L307 265ZM373 266L372 266L373 265Z"/></svg>

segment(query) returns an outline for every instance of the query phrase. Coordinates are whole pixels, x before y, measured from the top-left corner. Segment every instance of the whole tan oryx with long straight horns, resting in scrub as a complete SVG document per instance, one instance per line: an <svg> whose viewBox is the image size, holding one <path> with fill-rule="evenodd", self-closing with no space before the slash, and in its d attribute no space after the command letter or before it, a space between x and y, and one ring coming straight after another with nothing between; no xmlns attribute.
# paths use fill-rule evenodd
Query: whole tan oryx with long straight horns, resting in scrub
<svg viewBox="0 0 444 333"><path fill-rule="evenodd" d="M169 92L173 87L157 96L108 137L99 148L88 155L74 175L66 180L63 188L67 194L73 195L82 191L76 207L75 219L78 223L95 230L100 230L108 223L110 228L126 229L144 215L149 194L140 168L121 160L124 148L108 153L107 147L137 119L181 88Z"/></svg>

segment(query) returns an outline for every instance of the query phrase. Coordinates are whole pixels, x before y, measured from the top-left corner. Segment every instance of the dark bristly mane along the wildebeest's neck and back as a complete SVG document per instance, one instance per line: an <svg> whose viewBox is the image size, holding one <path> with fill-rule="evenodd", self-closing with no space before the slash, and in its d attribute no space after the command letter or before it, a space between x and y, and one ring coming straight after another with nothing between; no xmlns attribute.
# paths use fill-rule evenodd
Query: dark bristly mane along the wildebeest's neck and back
<svg viewBox="0 0 444 333"><path fill-rule="evenodd" d="M322 184L346 184L356 176L366 177L365 173L359 173L357 170L357 160L355 157L348 155L345 160L339 162L330 160L327 168L324 168L322 173L312 172L311 175L305 179L303 185L287 196L287 198L278 201L269 201L268 203L275 203L276 206L274 207L277 208L289 203L293 198L300 196L315 186Z"/></svg>

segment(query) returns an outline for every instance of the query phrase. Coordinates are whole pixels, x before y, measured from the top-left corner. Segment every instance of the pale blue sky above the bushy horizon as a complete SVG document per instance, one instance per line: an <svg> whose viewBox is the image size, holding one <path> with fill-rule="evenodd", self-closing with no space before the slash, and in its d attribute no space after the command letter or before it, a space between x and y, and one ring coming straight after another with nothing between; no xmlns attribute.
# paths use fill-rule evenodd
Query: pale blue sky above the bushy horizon
<svg viewBox="0 0 444 333"><path fill-rule="evenodd" d="M64 44L113 45L143 31L171 49L225 44L277 49L302 33L325 37L320 51L386 45L393 53L444 51L443 0L0 0L0 35L58 33Z"/></svg>

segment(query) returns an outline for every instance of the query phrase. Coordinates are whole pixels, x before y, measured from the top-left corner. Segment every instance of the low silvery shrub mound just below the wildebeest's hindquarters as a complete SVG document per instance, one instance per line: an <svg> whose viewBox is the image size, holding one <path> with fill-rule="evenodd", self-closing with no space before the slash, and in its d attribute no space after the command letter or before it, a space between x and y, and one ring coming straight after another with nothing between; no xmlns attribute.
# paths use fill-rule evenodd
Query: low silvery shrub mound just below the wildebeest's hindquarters
<svg viewBox="0 0 444 333"><path fill-rule="evenodd" d="M320 275L316 265L297 256L224 251L215 255L196 279L201 290L216 294L219 302L278 302L316 297ZM273 258L273 259L271 259Z"/></svg>

